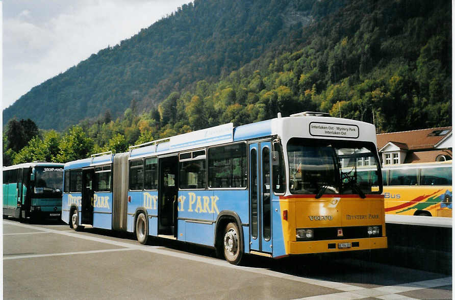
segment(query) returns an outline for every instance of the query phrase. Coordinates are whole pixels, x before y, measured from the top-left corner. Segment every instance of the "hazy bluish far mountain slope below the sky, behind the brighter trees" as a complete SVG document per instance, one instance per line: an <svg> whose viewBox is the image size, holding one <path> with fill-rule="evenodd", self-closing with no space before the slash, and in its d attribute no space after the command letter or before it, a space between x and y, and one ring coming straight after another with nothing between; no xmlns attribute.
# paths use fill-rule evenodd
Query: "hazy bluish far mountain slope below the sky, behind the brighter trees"
<svg viewBox="0 0 455 300"><path fill-rule="evenodd" d="M47 80L4 110L31 118L41 129L62 130L106 111L117 117L133 99L150 109L172 91L199 80L217 81L273 45L292 29L337 6L315 1L196 0L120 44L93 54ZM334 2L341 5L342 2ZM52 110L49 110L52 108ZM52 115L52 117L50 117Z"/></svg>

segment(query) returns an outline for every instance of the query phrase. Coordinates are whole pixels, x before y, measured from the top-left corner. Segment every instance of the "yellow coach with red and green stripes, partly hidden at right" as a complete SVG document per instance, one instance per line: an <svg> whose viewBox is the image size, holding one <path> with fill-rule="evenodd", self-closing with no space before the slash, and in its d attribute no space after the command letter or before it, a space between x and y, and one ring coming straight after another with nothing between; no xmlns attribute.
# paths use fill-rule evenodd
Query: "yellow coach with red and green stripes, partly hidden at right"
<svg viewBox="0 0 455 300"><path fill-rule="evenodd" d="M386 214L452 217L452 161L383 168Z"/></svg>

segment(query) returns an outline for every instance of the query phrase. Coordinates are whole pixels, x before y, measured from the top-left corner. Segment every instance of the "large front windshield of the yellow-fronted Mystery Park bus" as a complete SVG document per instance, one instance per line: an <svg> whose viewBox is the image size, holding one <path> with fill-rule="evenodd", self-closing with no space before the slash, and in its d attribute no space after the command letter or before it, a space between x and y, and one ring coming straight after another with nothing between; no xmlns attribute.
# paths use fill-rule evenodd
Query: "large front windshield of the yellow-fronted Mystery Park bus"
<svg viewBox="0 0 455 300"><path fill-rule="evenodd" d="M374 143L292 138L287 145L293 194L381 194Z"/></svg>

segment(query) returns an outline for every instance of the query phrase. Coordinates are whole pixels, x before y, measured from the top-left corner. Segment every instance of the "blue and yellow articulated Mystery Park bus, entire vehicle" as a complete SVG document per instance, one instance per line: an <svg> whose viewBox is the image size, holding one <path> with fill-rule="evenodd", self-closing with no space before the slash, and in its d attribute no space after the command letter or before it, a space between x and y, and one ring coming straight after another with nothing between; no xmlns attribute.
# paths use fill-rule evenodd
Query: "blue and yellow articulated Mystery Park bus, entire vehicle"
<svg viewBox="0 0 455 300"><path fill-rule="evenodd" d="M387 247L382 191L372 124L279 114L68 162L62 220L210 246L238 264Z"/></svg>

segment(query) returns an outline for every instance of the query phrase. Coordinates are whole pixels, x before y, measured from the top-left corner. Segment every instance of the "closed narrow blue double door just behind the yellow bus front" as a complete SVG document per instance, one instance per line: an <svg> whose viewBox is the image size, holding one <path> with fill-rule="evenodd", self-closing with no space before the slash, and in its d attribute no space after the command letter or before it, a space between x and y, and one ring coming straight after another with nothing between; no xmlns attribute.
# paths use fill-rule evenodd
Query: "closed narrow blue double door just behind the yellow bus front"
<svg viewBox="0 0 455 300"><path fill-rule="evenodd" d="M272 252L270 142L249 145L250 249Z"/></svg>

